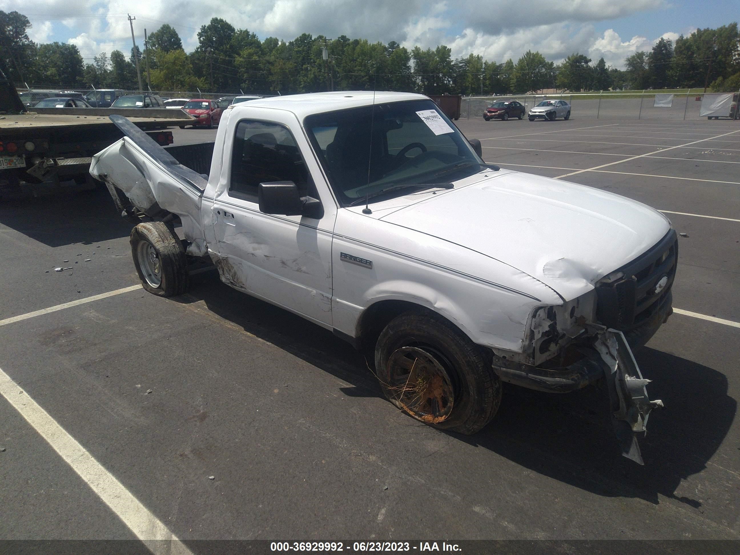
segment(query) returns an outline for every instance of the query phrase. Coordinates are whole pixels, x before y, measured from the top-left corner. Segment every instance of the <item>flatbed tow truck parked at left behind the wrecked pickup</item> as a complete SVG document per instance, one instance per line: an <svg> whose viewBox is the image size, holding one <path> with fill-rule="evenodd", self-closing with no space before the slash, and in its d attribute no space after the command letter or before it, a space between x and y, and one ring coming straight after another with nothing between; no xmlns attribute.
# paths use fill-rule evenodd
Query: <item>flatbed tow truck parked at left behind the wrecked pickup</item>
<svg viewBox="0 0 740 555"><path fill-rule="evenodd" d="M0 199L95 188L90 161L123 134L110 121L125 115L161 146L172 144L166 127L192 123L182 110L38 108L26 110L0 67Z"/></svg>

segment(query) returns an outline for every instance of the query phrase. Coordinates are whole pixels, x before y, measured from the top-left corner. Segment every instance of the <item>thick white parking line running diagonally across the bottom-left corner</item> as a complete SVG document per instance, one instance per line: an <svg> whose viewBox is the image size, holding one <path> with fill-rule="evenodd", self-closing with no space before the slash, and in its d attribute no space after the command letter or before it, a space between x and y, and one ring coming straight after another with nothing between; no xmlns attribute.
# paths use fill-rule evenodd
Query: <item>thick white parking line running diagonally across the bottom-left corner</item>
<svg viewBox="0 0 740 555"><path fill-rule="evenodd" d="M149 509L0 369L0 394L154 554L192 552ZM74 508L70 507L70 511ZM169 540L169 541L163 541Z"/></svg>

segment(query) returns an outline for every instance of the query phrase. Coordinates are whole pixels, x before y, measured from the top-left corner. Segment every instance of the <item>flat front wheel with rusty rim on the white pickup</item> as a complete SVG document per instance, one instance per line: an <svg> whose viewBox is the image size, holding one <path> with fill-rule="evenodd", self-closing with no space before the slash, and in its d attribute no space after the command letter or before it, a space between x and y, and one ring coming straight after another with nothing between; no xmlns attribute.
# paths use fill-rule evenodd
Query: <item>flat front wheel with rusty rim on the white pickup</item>
<svg viewBox="0 0 740 555"><path fill-rule="evenodd" d="M433 428L474 434L501 403L484 349L433 312L391 320L377 340L375 368L388 400Z"/></svg>

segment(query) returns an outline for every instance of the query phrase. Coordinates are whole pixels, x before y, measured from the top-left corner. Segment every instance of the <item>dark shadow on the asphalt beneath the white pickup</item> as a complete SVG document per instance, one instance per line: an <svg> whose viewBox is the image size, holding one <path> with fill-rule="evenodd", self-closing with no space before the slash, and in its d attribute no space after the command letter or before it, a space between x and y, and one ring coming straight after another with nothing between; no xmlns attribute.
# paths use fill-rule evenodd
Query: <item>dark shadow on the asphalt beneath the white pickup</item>
<svg viewBox="0 0 740 555"><path fill-rule="evenodd" d="M382 397L362 354L332 332L201 275L181 303L203 300L209 311L237 324L319 369L351 383L351 397ZM546 394L505 384L497 417L473 436L451 437L486 448L539 474L606 497L639 497L658 503L672 497L695 508L698 499L677 497L682 479L704 470L736 413L719 371L655 349L635 353L654 380L650 396L666 408L650 416L640 439L645 466L619 454L606 414L605 391L592 386L571 394ZM395 410L388 405L388 410Z"/></svg>

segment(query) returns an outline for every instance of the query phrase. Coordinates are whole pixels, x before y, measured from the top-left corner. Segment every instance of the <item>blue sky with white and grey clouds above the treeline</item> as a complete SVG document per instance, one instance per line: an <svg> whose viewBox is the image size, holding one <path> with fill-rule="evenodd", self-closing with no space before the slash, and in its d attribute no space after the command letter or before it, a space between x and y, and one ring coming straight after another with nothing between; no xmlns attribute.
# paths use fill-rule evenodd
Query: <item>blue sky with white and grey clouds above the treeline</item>
<svg viewBox="0 0 740 555"><path fill-rule="evenodd" d="M19 10L18 4L0 0L0 10ZM24 0L19 11L31 20L34 41L76 44L92 61L100 52L129 52L129 10L137 18L140 46L144 27L151 33L166 22L190 51L198 44L198 28L216 16L260 38L345 34L406 47L447 44L456 57L476 53L499 62L516 61L526 50L539 50L551 61L579 52L594 61L603 56L613 67L622 67L636 50L649 50L661 36L675 39L697 27L719 27L738 14L737 2L730 0L251 0L233 6L223 0Z"/></svg>

